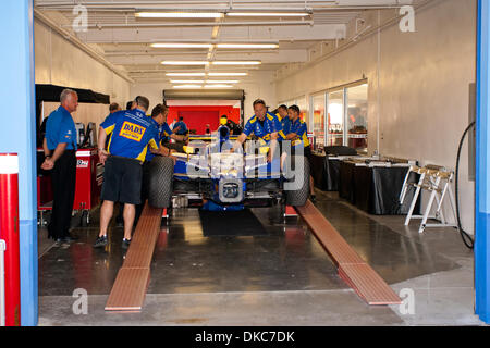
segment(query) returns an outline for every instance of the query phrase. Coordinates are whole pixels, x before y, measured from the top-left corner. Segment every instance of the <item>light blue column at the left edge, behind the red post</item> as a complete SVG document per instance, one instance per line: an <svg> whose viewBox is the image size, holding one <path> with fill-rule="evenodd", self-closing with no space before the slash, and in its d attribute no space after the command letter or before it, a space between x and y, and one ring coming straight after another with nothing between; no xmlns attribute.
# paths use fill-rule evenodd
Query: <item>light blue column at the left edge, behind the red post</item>
<svg viewBox="0 0 490 348"><path fill-rule="evenodd" d="M0 152L19 154L21 324L38 323L33 0L3 0Z"/></svg>

